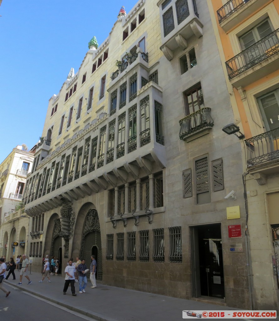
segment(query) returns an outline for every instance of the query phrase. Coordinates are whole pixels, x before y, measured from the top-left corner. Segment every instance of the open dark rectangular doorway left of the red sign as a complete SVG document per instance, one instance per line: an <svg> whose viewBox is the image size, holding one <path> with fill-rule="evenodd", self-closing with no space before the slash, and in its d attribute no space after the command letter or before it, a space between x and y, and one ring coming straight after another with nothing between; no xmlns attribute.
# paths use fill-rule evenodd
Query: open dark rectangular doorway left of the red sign
<svg viewBox="0 0 279 321"><path fill-rule="evenodd" d="M225 298L221 224L192 227L195 297Z"/></svg>

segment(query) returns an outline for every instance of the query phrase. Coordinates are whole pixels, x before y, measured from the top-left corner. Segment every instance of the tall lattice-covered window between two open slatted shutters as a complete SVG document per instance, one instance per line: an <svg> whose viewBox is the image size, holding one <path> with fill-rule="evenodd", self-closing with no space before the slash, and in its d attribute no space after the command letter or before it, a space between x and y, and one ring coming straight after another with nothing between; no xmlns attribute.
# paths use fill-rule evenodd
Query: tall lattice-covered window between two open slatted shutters
<svg viewBox="0 0 279 321"><path fill-rule="evenodd" d="M196 170L196 203L210 203L208 158L195 161Z"/></svg>

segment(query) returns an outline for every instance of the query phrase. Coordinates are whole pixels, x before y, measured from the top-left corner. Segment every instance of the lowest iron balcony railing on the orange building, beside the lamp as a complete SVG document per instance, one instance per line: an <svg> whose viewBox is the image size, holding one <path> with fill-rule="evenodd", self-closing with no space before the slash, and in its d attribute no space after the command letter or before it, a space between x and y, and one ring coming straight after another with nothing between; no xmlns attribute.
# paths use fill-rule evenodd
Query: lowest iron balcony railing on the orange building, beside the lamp
<svg viewBox="0 0 279 321"><path fill-rule="evenodd" d="M279 158L279 128L245 140L247 167Z"/></svg>

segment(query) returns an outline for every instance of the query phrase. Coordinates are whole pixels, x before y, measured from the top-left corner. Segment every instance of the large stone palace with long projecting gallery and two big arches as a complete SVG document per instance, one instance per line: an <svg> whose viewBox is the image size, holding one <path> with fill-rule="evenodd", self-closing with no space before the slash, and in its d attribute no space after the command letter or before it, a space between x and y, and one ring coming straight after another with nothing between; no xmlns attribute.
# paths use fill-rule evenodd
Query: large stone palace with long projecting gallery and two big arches
<svg viewBox="0 0 279 321"><path fill-rule="evenodd" d="M49 100L25 188L33 266L94 254L98 282L250 308L242 150L222 131L234 114L208 3L140 0L88 48Z"/></svg>

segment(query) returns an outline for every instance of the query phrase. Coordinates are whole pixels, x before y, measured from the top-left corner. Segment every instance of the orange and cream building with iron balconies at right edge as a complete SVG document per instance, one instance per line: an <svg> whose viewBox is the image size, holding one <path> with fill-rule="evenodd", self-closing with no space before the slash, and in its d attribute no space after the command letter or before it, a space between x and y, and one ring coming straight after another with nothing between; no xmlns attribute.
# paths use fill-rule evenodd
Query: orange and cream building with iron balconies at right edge
<svg viewBox="0 0 279 321"><path fill-rule="evenodd" d="M234 125L227 130L232 133L240 127L245 135L235 133L243 141L251 303L256 309L275 310L279 284L279 1L207 3L234 112Z"/></svg>

